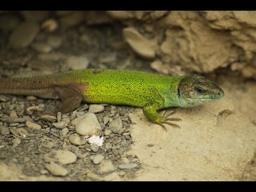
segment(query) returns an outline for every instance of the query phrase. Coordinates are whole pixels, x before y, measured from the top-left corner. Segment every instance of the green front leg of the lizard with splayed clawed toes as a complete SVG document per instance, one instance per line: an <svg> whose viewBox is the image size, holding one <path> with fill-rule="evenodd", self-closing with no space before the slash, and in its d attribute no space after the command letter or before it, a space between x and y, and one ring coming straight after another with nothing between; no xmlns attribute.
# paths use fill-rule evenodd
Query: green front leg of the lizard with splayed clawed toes
<svg viewBox="0 0 256 192"><path fill-rule="evenodd" d="M163 125L163 123L179 127L179 125L171 123L171 122L167 122L167 121L168 120L169 121L181 121L180 118L170 118L170 117L168 117L169 115L171 115L170 113L167 115L164 115L164 116L159 115L157 113L158 109L161 109L158 102L153 102L153 103L150 103L150 104L142 107L143 114L150 121L153 121L154 123L161 125L165 129L165 131L167 131L167 130L166 130L166 127ZM173 114L173 112L171 112L171 113Z"/></svg>

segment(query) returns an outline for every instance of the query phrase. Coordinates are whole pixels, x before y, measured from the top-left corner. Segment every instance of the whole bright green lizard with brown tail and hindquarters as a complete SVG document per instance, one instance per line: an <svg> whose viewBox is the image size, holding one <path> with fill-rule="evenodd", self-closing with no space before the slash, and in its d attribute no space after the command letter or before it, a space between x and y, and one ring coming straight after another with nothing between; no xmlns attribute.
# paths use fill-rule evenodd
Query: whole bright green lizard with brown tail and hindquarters
<svg viewBox="0 0 256 192"><path fill-rule="evenodd" d="M167 107L193 107L221 99L224 92L201 75L159 76L142 71L84 69L64 73L1 79L0 94L34 95L61 99L59 111L69 113L87 103L108 103L142 107L143 114L165 128L175 125L170 114L161 116L157 110ZM42 114L56 114L50 111ZM35 114L40 114L38 111Z"/></svg>

